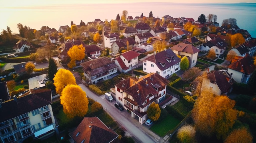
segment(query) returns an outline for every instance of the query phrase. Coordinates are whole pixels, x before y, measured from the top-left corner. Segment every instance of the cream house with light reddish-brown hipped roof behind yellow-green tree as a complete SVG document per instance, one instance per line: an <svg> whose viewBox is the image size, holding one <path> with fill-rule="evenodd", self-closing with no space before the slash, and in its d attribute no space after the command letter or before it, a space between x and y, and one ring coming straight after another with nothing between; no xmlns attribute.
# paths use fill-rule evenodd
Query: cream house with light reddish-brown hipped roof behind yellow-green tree
<svg viewBox="0 0 256 143"><path fill-rule="evenodd" d="M189 67L194 67L196 65L197 55L198 52L200 52L200 50L194 47L193 45L179 43L171 47L171 49L176 55L179 55L181 57L186 56L189 60Z"/></svg>

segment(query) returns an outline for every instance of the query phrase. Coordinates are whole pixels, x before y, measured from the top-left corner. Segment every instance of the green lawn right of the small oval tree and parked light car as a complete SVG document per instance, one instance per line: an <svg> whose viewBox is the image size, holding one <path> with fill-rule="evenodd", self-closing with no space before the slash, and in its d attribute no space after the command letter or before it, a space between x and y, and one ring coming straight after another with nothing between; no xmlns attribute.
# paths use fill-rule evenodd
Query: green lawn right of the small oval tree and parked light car
<svg viewBox="0 0 256 143"><path fill-rule="evenodd" d="M164 137L166 133L175 128L179 124L179 122L180 120L168 114L164 120L155 123L150 129L159 136Z"/></svg>

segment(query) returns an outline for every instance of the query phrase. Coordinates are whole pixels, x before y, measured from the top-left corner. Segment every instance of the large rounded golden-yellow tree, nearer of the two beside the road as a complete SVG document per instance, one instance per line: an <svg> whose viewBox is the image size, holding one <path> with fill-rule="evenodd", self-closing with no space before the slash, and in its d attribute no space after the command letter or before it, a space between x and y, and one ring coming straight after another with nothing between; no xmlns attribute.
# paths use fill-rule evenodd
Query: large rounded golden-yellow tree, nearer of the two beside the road
<svg viewBox="0 0 256 143"><path fill-rule="evenodd" d="M60 96L63 112L69 118L83 117L88 111L88 103L86 93L78 85L67 85Z"/></svg>

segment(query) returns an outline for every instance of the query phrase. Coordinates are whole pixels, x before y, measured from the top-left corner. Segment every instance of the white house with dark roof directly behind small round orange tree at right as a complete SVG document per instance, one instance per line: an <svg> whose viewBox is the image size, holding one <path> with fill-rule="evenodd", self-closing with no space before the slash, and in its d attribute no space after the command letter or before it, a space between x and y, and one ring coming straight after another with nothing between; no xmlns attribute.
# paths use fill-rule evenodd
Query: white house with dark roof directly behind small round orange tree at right
<svg viewBox="0 0 256 143"><path fill-rule="evenodd" d="M201 50L208 51L211 48L213 48L215 50L216 57L219 57L224 53L227 46L228 44L224 40L222 40L220 37L218 37L208 41L207 43L204 43L201 47Z"/></svg>

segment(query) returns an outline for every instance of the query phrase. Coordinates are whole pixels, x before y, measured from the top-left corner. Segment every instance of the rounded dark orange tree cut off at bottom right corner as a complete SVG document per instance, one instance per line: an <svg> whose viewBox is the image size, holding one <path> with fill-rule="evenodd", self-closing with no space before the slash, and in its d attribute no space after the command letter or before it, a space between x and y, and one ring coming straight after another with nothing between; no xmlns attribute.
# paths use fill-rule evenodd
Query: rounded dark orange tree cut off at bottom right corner
<svg viewBox="0 0 256 143"><path fill-rule="evenodd" d="M233 130L224 141L224 143L252 143L252 142L253 142L253 137L245 127Z"/></svg>

